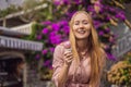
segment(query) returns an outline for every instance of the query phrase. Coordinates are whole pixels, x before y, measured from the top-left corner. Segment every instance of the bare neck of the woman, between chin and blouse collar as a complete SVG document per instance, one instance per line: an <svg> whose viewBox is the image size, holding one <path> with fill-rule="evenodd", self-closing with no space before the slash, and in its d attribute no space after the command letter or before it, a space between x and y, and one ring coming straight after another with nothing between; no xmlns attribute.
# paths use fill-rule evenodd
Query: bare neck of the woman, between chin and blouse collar
<svg viewBox="0 0 131 87"><path fill-rule="evenodd" d="M78 40L76 41L79 51L85 51L87 49L87 40Z"/></svg>

